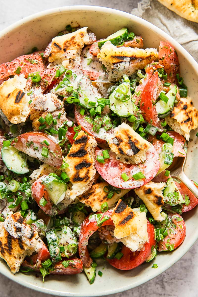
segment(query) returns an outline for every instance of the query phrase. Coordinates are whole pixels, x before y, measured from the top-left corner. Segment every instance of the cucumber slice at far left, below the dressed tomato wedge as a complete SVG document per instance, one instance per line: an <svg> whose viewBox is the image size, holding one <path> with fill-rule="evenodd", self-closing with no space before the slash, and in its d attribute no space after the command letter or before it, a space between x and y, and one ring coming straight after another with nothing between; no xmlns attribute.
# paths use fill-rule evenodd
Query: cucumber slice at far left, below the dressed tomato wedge
<svg viewBox="0 0 198 297"><path fill-rule="evenodd" d="M1 149L1 157L6 167L14 173L28 173L27 155L13 146L3 146Z"/></svg>

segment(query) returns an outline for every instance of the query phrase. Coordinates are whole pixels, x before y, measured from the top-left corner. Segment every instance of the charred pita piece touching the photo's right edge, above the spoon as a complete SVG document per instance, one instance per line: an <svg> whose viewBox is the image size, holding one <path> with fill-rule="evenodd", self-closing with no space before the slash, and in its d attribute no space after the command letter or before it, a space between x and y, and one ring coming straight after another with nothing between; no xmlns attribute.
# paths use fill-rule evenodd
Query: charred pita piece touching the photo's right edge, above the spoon
<svg viewBox="0 0 198 297"><path fill-rule="evenodd" d="M180 98L165 121L174 131L189 140L190 131L198 126L198 110L193 106L190 97Z"/></svg>

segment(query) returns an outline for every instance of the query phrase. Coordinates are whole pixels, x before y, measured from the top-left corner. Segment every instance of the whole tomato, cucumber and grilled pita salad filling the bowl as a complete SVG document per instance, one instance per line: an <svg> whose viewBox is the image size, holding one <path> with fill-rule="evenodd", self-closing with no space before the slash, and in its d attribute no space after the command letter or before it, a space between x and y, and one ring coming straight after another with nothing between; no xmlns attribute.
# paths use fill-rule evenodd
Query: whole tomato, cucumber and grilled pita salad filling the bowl
<svg viewBox="0 0 198 297"><path fill-rule="evenodd" d="M0 257L13 274L92 284L98 262L155 268L182 244L198 200L168 169L198 111L170 44L67 25L1 64L0 83Z"/></svg>

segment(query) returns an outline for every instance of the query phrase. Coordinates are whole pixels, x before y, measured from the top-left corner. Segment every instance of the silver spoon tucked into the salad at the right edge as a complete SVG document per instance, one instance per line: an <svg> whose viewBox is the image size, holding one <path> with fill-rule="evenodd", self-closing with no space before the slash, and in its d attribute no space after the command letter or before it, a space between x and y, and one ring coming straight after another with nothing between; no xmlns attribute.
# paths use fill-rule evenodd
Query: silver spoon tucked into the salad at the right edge
<svg viewBox="0 0 198 297"><path fill-rule="evenodd" d="M186 155L187 157L187 155ZM170 165L170 175L173 178L178 178L182 181L187 188L197 197L198 199L198 189L192 183L192 181L186 176L183 172L183 168L186 164L186 157L177 157L175 158L174 162Z"/></svg>

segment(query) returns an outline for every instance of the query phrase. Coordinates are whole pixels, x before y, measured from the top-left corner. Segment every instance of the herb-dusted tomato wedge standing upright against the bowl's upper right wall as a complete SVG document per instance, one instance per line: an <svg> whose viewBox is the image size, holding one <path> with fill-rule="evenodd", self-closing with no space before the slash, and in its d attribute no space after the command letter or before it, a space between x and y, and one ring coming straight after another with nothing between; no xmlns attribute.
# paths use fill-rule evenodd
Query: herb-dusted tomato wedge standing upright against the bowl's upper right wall
<svg viewBox="0 0 198 297"><path fill-rule="evenodd" d="M169 83L178 84L176 74L179 73L179 60L174 48L167 42L160 41L159 63L164 66Z"/></svg>

